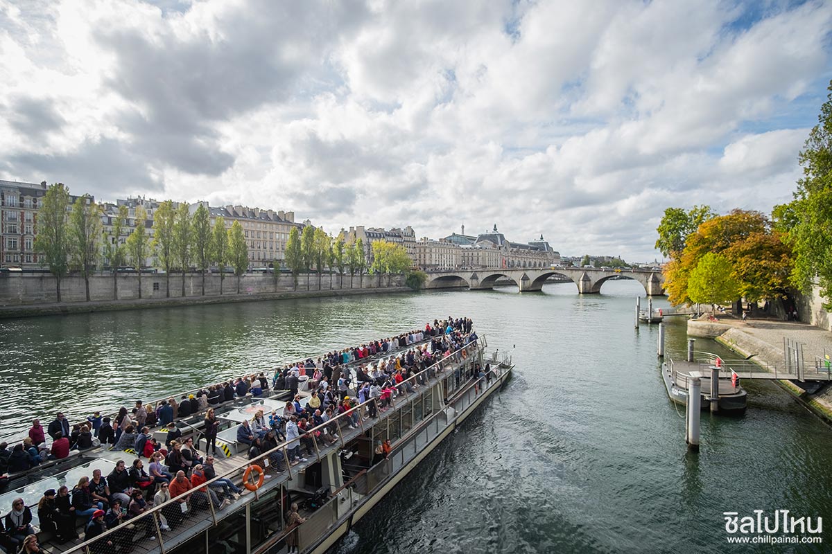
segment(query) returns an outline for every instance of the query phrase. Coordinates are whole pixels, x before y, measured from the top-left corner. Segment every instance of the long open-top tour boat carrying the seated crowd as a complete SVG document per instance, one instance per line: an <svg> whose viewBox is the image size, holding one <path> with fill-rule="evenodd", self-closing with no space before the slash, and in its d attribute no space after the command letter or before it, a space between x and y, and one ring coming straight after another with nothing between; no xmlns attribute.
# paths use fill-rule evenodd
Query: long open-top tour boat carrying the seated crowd
<svg viewBox="0 0 832 554"><path fill-rule="evenodd" d="M409 345L412 346L416 345ZM490 373L483 377L473 375L475 363L483 368L488 364ZM251 492L220 507L210 502L197 505L196 500L191 500L184 515L180 503L173 498L130 519L129 533L122 524L87 542L80 537L67 544L57 544L51 542L50 537L40 537L41 543L53 554L95 554L108 551L102 546L107 540L123 543L127 533L129 541L121 552L265 554L287 552L287 539L295 537L300 552L326 552L479 405L500 390L510 379L512 370L511 357L503 354L498 358L496 351L488 353L485 337L479 337L404 381L414 386L413 392L406 391L404 384L401 385L404 394L392 398L384 411L376 404L379 409L374 419L364 415L369 404L376 400L361 404L362 418L357 429L349 427L349 413L330 420L329 423L335 425L329 426L329 429L334 428L334 433L327 431L328 437L323 436L328 424L312 429L308 436L312 439L314 455L294 466L289 463L287 449L297 446L297 439L292 444L281 443L276 449L252 460L248 459L245 449L237 453L235 448L239 421L250 419L258 409L264 409L267 415L271 409L282 410L289 399L289 391L270 391L264 398L245 398L229 405L222 404L221 408L215 407L215 414L225 427L217 441L225 454L225 457L215 456L217 479L229 478L238 486L245 484ZM308 392L302 394L309 395ZM202 414L199 414L177 421L176 425L184 436L200 437L201 421ZM321 435L316 436L317 432ZM166 434L167 429L156 431L157 439L164 439ZM388 439L392 448L386 458L379 460L375 446ZM204 440L201 439L198 449L205 453ZM270 463L275 455L283 461L283 471L276 471L275 464ZM37 527L37 501L45 490L57 489L62 484L72 488L79 477L91 476L95 468L101 469L106 476L119 459L125 460L130 467L135 453L98 447L74 453L69 461L60 460L51 466L47 463L47 467L37 473L30 471L27 474L27 484L19 486L17 483L17 490L2 494L0 506L11 506L12 497L23 497L32 508L36 517L33 525ZM305 522L287 529L285 515L292 503L299 504ZM178 516L176 519L182 521L172 532L163 532L160 517L167 514L167 520L171 522L171 510ZM82 532L82 527L78 527L78 531Z"/></svg>

